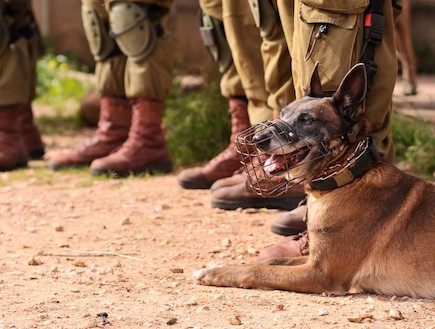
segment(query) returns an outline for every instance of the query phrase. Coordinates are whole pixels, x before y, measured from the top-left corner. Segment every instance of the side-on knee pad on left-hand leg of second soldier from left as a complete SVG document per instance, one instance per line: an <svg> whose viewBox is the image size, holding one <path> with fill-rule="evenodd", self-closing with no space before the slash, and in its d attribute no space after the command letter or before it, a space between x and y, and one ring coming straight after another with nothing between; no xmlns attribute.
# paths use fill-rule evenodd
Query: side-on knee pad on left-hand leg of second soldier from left
<svg viewBox="0 0 435 329"><path fill-rule="evenodd" d="M108 23L103 21L97 12L86 4L82 4L82 20L91 54L95 61L101 62L115 53L119 48L109 35Z"/></svg>

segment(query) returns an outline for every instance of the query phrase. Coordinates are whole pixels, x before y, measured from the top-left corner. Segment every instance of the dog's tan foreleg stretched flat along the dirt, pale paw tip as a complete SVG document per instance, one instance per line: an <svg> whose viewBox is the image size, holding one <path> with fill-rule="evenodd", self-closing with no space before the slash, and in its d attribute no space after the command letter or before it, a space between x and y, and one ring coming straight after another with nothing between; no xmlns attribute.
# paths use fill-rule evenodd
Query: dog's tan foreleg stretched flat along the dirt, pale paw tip
<svg viewBox="0 0 435 329"><path fill-rule="evenodd" d="M333 281L318 266L306 263L296 266L274 266L263 263L244 266L217 266L193 274L199 284L221 287L280 289L296 292L322 293L332 291Z"/></svg>

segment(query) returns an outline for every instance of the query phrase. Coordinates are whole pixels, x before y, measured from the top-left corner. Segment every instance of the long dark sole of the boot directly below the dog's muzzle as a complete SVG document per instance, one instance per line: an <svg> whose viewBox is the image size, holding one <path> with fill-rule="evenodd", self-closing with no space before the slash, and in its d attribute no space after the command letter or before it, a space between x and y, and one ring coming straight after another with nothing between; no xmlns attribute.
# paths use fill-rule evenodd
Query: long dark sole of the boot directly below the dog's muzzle
<svg viewBox="0 0 435 329"><path fill-rule="evenodd" d="M211 206L224 210L236 210L238 208L267 208L267 209L282 209L293 210L299 202L305 198L305 194L292 195L277 198L264 198L264 199L247 199L247 200L219 200L212 199Z"/></svg>

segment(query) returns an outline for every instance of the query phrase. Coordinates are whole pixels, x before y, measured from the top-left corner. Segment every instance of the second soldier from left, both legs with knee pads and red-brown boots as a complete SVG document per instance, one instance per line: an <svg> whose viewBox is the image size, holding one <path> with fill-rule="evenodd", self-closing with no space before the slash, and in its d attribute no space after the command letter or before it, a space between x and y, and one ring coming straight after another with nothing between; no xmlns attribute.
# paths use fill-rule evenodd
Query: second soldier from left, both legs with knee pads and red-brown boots
<svg viewBox="0 0 435 329"><path fill-rule="evenodd" d="M83 0L82 18L101 94L98 128L53 170L90 165L92 174L170 172L162 129L172 85L171 41L162 26L172 0Z"/></svg>

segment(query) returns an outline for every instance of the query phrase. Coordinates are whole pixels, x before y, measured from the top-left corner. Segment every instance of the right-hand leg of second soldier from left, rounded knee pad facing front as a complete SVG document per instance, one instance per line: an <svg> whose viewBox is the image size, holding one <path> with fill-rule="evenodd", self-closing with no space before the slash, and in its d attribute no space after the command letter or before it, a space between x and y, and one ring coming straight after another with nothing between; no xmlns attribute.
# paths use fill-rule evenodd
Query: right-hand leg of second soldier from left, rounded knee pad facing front
<svg viewBox="0 0 435 329"><path fill-rule="evenodd" d="M127 56L125 91L132 104L126 142L91 164L93 174L169 172L162 115L172 86L172 42L162 25L171 1L109 1L112 36Z"/></svg>

